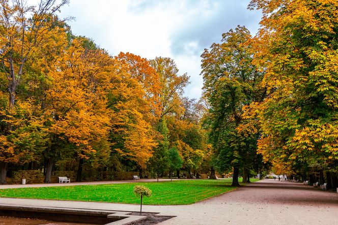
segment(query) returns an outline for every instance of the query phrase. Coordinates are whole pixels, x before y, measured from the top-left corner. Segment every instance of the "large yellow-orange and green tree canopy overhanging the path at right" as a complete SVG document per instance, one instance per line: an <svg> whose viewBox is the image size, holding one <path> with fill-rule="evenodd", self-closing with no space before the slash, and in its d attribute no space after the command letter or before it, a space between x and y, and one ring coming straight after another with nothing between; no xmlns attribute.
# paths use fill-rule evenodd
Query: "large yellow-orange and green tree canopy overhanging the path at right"
<svg viewBox="0 0 338 225"><path fill-rule="evenodd" d="M268 97L257 107L259 152L275 166L338 159L338 2L253 0L263 12L255 64Z"/></svg>

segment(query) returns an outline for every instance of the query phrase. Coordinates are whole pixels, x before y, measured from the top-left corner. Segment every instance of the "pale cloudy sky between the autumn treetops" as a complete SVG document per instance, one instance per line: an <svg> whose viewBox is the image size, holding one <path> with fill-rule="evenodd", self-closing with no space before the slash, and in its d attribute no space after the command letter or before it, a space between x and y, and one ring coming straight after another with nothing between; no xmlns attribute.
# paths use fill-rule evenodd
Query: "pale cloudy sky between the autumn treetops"
<svg viewBox="0 0 338 225"><path fill-rule="evenodd" d="M255 35L261 13L247 10L249 0L70 0L60 17L74 35L94 40L111 55L130 52L148 60L172 58L179 75L187 73L185 96L202 94L201 54L221 35L245 25Z"/></svg>

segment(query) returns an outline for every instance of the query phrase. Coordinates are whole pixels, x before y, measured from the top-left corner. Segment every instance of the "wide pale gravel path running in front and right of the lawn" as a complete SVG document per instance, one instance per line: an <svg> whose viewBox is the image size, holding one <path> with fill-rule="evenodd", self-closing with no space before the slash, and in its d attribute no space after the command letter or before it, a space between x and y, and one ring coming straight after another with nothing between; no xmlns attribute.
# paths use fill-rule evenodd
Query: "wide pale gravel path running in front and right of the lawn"
<svg viewBox="0 0 338 225"><path fill-rule="evenodd" d="M138 211L138 205L0 198L1 204ZM338 193L287 181L262 180L181 206L144 206L176 217L162 224L338 224Z"/></svg>

